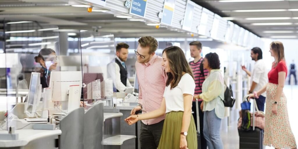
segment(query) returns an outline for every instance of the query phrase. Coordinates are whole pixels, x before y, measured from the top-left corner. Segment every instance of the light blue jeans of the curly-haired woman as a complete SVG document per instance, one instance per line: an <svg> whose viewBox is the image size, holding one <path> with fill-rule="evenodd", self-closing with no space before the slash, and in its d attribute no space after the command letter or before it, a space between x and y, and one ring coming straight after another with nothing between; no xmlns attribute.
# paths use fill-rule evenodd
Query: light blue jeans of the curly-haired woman
<svg viewBox="0 0 298 149"><path fill-rule="evenodd" d="M221 119L215 114L215 109L204 112L204 136L208 149L223 149L221 141Z"/></svg>

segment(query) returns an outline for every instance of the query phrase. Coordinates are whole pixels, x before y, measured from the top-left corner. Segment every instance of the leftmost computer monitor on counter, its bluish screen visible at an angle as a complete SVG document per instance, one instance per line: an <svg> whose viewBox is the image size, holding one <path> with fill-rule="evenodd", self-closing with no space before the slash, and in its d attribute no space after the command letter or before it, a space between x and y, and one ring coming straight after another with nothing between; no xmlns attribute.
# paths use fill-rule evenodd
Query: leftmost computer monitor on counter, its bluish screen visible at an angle
<svg viewBox="0 0 298 149"><path fill-rule="evenodd" d="M29 86L29 93L27 97L26 114L28 117L34 117L36 108L41 98L41 84L40 73L32 72Z"/></svg>

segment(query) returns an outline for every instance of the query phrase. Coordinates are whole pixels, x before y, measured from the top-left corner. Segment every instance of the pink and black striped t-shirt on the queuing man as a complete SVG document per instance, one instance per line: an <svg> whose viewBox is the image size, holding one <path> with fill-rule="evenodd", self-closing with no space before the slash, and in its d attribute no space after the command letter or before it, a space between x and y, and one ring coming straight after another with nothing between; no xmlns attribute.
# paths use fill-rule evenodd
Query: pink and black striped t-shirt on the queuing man
<svg viewBox="0 0 298 149"><path fill-rule="evenodd" d="M205 77L208 75L208 70L204 69L204 75L201 74L200 65L204 58L201 58L198 62L189 62L190 68L193 70L193 76L195 77L195 94L202 93L202 84L205 81Z"/></svg>

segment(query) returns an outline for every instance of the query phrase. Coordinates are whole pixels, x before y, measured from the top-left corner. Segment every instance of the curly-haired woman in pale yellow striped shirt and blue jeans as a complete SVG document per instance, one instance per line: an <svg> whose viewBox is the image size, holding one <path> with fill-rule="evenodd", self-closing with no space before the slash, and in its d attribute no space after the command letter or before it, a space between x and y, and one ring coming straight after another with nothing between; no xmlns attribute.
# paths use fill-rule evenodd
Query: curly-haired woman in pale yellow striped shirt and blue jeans
<svg viewBox="0 0 298 149"><path fill-rule="evenodd" d="M221 119L224 118L224 78L221 75L220 61L216 53L208 53L203 60L209 77L204 81L202 94L194 98L203 99L204 136L209 149L223 149L220 136Z"/></svg>

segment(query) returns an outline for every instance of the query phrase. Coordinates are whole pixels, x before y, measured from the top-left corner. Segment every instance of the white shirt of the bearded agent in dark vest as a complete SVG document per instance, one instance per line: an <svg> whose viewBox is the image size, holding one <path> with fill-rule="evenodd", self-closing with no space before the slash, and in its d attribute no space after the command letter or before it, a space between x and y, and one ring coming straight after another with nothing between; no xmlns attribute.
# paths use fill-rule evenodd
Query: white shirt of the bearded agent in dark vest
<svg viewBox="0 0 298 149"><path fill-rule="evenodd" d="M116 56L116 58L119 60L120 63L122 61ZM120 67L119 65L115 62L115 59L113 59L109 64L108 64L108 77L112 78L113 80L113 85L116 87L116 89L120 92L124 92L124 90L127 87L133 87L131 86L131 83L129 82L128 78L126 80L126 86L121 82L121 76L120 76Z"/></svg>

